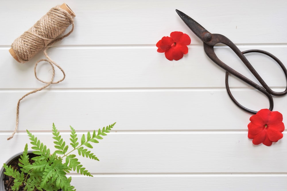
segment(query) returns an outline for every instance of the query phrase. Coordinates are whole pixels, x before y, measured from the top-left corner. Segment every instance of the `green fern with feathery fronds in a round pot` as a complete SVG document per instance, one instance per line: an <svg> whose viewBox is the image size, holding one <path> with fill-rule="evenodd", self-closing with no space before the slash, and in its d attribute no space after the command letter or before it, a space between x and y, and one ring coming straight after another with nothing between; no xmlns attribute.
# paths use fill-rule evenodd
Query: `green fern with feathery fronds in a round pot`
<svg viewBox="0 0 287 191"><path fill-rule="evenodd" d="M20 191L20 187L25 191L75 191L74 186L70 184L71 177L68 178L66 176L67 173L75 171L85 176L92 176L90 172L80 164L75 154L78 153L79 156L82 155L83 157L98 160L94 153L88 150L88 148L93 148L90 143L98 143L97 139L103 139L102 136L109 133L114 125L115 123L103 127L98 131L88 132L86 136L83 134L80 141L78 141L75 129L70 126L70 145L72 149L69 150L69 146L63 141L57 128L53 124L54 147L57 149L53 153L27 130L27 134L31 140L30 143L33 145L33 151L29 152L28 144L25 145L22 155L18 157L18 166L20 167L18 170L13 169L9 161L3 165L0 172L0 190L8 190L8 188L5 188L3 181L3 176L6 175L14 179L13 186L11 186L11 190L13 191ZM15 157L13 157L13 159L15 159Z"/></svg>

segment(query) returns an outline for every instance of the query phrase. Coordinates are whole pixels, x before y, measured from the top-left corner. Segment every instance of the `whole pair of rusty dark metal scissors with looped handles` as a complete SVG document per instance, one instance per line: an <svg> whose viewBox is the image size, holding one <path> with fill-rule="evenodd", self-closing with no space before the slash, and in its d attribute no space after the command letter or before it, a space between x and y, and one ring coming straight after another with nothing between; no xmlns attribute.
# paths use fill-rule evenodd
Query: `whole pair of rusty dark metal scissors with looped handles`
<svg viewBox="0 0 287 191"><path fill-rule="evenodd" d="M203 42L203 49L205 51L205 53L207 54L207 56L213 61L215 62L218 66L220 66L221 68L223 68L226 73L225 73L225 86L226 86L226 90L227 93L229 95L229 97L231 98L231 100L243 111L246 111L248 113L252 113L252 114L256 114L257 111L253 111L251 109L248 109L244 106L242 106L240 103L238 103L234 97L232 96L231 92L230 92L230 88L229 88L229 84L228 84L228 75L229 73L236 76L237 78L239 78L240 80L246 82L247 84L249 84L250 86L252 86L253 88L259 90L260 92L262 92L263 94L265 94L267 96L267 98L269 99L269 110L272 111L273 107L274 107L274 102L273 102L273 97L274 96L283 96L287 94L287 85L286 85L286 89L282 92L275 92L273 91L266 83L265 81L261 78L261 76L256 72L256 70L253 68L253 66L249 63L249 61L247 60L247 58L244 56L244 54L250 53L250 52L257 52L257 53L261 53L261 54L265 54L269 57L271 57L273 60L275 60L279 66L282 68L284 74L285 74L285 78L286 78L286 82L287 82L287 70L284 66L284 64L282 64L282 62L275 57L273 54L266 52L264 50L257 50L257 49L253 49L253 50L246 50L241 52L237 46L232 43L228 38L226 38L225 36L221 35L221 34L211 34L210 32L208 32L205 28L203 28L199 23L197 23L195 20L193 20L191 17L187 16L185 13L177 10L177 14L181 17L181 19L183 20L183 22L185 22L185 24L193 31L193 33L200 38L200 40ZM241 59L241 61L245 64L245 66L247 66L247 68L251 71L251 73L255 76L255 78L257 78L257 80L260 82L260 84L262 86L259 86L258 84L256 84L255 82L251 81L250 79L248 79L247 77L243 76L242 74L240 74L239 72L235 71L234 69L232 69L231 67L229 67L228 65L226 65L224 62L222 62L215 54L214 52L214 46L218 43L222 43L227 45L229 48L231 48L235 54Z"/></svg>

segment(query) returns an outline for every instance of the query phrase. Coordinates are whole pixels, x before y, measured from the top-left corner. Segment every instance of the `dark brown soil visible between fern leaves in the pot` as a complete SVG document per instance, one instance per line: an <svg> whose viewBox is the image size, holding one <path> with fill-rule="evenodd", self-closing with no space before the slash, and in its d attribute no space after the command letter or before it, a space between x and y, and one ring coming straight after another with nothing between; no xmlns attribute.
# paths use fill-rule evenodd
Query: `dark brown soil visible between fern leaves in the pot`
<svg viewBox="0 0 287 191"><path fill-rule="evenodd" d="M32 164L34 161L33 160L31 160L30 158L33 158L33 157L36 157L37 155L35 155L35 154L33 154L33 153L28 153L28 155L29 155L29 161L30 161L30 164ZM20 166L18 166L18 163L19 163L19 158L20 158L20 156L19 157L17 157L17 158L15 158L14 160L12 160L9 164L7 164L8 166L10 166L11 165L11 167L15 170L18 170L20 173L21 173L21 170L20 170ZM4 187L5 187L5 190L6 191L12 191L12 189L11 189L11 186L13 186L14 185L14 178L13 177L11 177L11 176L7 176L7 175L5 175L4 174ZM25 191L24 190L24 185L21 185L20 187L19 187L19 190L18 191ZM35 190L34 191L39 191L38 189L36 189L35 188ZM44 191L44 190L43 190ZM61 190L58 190L58 191L61 191Z"/></svg>

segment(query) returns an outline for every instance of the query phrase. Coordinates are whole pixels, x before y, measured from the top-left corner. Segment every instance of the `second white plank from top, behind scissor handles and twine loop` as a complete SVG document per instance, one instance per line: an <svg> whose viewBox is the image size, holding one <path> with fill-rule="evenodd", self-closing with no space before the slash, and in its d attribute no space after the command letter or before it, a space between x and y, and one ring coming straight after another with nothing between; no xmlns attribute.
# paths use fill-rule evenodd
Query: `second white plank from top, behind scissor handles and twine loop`
<svg viewBox="0 0 287 191"><path fill-rule="evenodd" d="M263 49L287 63L287 46L239 46L241 50ZM230 67L258 82L251 72L227 47L216 48L216 54ZM66 79L50 88L214 88L225 87L225 71L214 64L202 46L190 46L189 53L179 61L169 61L147 47L65 47L51 48L49 56L66 72ZM3 59L0 71L0 88L38 88L44 84L34 77L34 63L43 58L38 54L30 62L19 64L8 52L0 49ZM248 54L253 67L271 87L286 87L286 79L276 62L263 54ZM51 80L49 64L40 63L38 77ZM63 74L56 70L55 80ZM230 76L230 87L248 87Z"/></svg>

